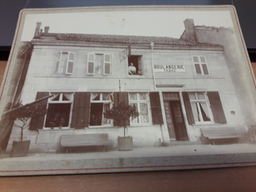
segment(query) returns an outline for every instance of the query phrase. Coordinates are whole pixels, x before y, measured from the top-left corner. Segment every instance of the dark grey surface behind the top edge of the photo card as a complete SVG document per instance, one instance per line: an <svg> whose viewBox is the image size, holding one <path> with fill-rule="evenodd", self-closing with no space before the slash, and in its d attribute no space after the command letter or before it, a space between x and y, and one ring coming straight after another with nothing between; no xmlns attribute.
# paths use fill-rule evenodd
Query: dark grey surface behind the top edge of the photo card
<svg viewBox="0 0 256 192"><path fill-rule="evenodd" d="M127 5L225 5L236 7L249 52L256 51L255 0L0 0L0 54L9 51L21 9Z"/></svg>

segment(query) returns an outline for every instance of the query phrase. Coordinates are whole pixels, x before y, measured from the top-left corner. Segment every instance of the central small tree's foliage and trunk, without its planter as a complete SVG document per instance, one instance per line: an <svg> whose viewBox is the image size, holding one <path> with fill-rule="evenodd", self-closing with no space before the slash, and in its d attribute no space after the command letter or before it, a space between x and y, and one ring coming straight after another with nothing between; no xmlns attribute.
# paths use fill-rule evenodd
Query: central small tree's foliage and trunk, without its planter
<svg viewBox="0 0 256 192"><path fill-rule="evenodd" d="M112 119L120 125L123 124L123 135L125 137L125 128L128 120L133 120L139 116L139 112L135 106L127 105L123 102L117 104L117 106L112 107L112 109L106 110L104 112L104 117L107 119Z"/></svg>

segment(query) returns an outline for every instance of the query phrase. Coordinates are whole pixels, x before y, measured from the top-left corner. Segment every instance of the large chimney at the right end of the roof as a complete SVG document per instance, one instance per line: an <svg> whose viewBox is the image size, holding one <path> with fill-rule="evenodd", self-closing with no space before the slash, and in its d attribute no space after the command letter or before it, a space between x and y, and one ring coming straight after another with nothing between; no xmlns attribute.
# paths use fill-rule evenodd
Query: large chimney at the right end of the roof
<svg viewBox="0 0 256 192"><path fill-rule="evenodd" d="M183 21L185 30L181 36L181 39L185 41L197 42L197 34L194 30L194 20L193 19L186 19Z"/></svg>

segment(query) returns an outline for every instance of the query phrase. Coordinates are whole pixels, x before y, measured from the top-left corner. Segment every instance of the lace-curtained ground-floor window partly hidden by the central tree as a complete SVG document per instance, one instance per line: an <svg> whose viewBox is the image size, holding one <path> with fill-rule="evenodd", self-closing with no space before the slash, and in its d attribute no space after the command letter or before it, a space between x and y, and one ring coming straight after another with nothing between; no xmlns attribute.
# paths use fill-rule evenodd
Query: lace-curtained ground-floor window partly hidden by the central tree
<svg viewBox="0 0 256 192"><path fill-rule="evenodd" d="M131 120L131 124L150 122L148 93L129 93L129 104L135 106L139 112L139 117Z"/></svg>

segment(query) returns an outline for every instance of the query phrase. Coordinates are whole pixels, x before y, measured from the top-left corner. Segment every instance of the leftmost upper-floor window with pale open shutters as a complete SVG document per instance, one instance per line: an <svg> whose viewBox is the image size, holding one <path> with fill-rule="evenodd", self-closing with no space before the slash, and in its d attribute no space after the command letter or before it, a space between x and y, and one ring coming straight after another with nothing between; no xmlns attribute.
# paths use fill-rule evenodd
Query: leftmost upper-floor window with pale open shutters
<svg viewBox="0 0 256 192"><path fill-rule="evenodd" d="M75 67L75 53L61 51L58 53L55 73L73 75Z"/></svg>

